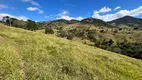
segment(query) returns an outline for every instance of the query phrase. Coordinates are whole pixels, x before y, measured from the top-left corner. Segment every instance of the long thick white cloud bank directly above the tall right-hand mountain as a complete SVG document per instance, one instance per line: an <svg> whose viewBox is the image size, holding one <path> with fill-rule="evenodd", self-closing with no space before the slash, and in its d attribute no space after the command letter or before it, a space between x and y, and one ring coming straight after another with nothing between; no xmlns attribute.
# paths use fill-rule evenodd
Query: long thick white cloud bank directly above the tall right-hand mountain
<svg viewBox="0 0 142 80"><path fill-rule="evenodd" d="M96 11L94 11L94 14L92 15L93 18L98 18L98 19L102 19L104 21L112 21L124 16L139 16L142 14L142 6L133 9L133 10L120 10L114 14L105 14L105 15L100 15L99 13L96 13Z"/></svg>

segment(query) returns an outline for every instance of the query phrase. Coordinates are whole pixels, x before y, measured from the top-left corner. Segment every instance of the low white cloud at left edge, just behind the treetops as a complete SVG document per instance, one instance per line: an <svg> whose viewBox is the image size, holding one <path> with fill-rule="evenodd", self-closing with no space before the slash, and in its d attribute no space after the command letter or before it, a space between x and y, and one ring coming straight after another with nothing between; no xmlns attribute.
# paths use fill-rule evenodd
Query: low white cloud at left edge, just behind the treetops
<svg viewBox="0 0 142 80"><path fill-rule="evenodd" d="M18 20L24 20L24 21L27 21L29 19L25 16L14 16L14 15L7 14L7 13L0 13L0 20L2 20L2 18L5 16L9 16L11 18L17 18Z"/></svg>

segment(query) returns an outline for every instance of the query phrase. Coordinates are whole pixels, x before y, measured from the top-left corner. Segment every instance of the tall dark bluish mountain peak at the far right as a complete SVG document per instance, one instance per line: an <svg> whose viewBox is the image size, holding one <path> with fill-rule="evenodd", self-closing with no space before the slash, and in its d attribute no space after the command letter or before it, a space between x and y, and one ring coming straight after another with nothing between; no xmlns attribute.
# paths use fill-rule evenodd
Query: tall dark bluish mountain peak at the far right
<svg viewBox="0 0 142 80"><path fill-rule="evenodd" d="M110 21L108 23L113 25L115 24L116 26L124 24L130 27L142 27L142 19L134 18L131 16L125 16L125 17Z"/></svg>

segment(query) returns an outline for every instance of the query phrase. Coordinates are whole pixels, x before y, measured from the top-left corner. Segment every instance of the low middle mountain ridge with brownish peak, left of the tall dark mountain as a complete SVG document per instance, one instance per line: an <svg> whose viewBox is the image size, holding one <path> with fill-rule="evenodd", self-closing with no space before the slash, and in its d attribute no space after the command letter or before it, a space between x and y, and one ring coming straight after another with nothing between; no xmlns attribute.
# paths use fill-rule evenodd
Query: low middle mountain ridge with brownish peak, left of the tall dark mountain
<svg viewBox="0 0 142 80"><path fill-rule="evenodd" d="M78 20L65 20L65 19L59 19L54 21L47 21L47 22L38 22L37 24L41 26L42 28L46 27L58 27L58 26L65 26L69 24L75 24L75 23L81 23L81 24L91 24L97 27L103 26L103 27L111 27L108 23L95 19L95 18L86 18L81 21Z"/></svg>

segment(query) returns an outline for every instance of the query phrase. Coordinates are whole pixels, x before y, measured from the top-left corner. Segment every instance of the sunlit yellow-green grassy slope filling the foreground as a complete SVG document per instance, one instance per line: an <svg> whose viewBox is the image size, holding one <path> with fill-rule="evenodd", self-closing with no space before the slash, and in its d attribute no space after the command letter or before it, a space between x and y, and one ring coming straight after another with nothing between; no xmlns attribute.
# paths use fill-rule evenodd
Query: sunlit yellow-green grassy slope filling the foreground
<svg viewBox="0 0 142 80"><path fill-rule="evenodd" d="M141 80L142 61L0 24L0 80Z"/></svg>

